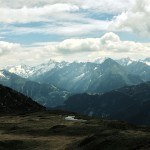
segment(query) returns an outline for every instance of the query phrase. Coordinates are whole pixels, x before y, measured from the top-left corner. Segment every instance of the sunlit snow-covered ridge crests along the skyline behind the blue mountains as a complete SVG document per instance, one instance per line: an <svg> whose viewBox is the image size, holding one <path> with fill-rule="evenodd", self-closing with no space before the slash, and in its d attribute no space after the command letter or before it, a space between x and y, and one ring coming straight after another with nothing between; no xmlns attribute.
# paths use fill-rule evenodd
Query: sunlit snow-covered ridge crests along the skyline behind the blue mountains
<svg viewBox="0 0 150 150"><path fill-rule="evenodd" d="M93 61L89 61L91 63L96 63L96 64L102 64L104 63L105 60L109 59L108 57L100 57L97 58ZM146 58L143 60L134 60L131 59L129 57L127 58L121 58L118 60L115 60L117 63L119 63L121 66L129 66L134 62L142 62L145 63L146 65L150 66L150 58ZM88 62L80 62L80 63L88 63ZM30 78L30 77L35 77L35 76L39 76L44 74L45 72L51 71L54 68L63 68L65 66L70 65L70 62L57 62L54 60L49 60L47 63L42 63L40 65L37 66L27 66L27 65L18 65L18 66L8 66L6 68L4 68L5 70L11 72L11 73L15 73L23 78ZM0 75L2 76L2 75Z"/></svg>

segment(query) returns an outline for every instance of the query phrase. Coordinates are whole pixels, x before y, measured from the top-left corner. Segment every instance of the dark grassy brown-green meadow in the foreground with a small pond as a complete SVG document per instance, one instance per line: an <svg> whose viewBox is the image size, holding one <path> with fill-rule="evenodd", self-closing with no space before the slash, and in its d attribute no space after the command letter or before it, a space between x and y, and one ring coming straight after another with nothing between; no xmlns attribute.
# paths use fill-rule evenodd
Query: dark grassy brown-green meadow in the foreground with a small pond
<svg viewBox="0 0 150 150"><path fill-rule="evenodd" d="M74 120L72 115L76 116ZM149 147L150 128L125 122L58 111L0 117L1 150L148 150Z"/></svg>

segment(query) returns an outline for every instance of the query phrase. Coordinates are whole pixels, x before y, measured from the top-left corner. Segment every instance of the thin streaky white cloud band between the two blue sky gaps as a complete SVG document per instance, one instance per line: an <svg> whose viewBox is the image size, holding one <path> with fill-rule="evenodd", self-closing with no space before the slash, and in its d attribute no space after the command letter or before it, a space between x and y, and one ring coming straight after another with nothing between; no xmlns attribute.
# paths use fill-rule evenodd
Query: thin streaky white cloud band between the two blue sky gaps
<svg viewBox="0 0 150 150"><path fill-rule="evenodd" d="M99 32L102 30L106 30L110 24L109 21L101 21L94 19L84 19L78 16L81 22L71 22L68 19L67 21L59 21L57 24L49 23L39 27L16 27L16 26L6 26L5 28L0 29L2 32L5 31L3 35L13 34L13 35L25 35L32 33L40 33L40 34L49 34L49 35L57 35L57 36L81 36L87 35L94 32ZM75 18L74 18L75 19ZM56 23L56 24L55 24ZM1 33L2 33L1 32Z"/></svg>

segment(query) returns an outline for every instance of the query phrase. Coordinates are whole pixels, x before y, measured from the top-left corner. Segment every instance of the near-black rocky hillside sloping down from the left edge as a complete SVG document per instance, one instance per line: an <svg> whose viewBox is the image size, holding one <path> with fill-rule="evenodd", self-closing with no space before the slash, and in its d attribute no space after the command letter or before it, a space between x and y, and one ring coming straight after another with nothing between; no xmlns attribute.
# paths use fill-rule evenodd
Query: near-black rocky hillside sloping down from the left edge
<svg viewBox="0 0 150 150"><path fill-rule="evenodd" d="M0 85L0 113L29 113L45 108L10 88Z"/></svg>

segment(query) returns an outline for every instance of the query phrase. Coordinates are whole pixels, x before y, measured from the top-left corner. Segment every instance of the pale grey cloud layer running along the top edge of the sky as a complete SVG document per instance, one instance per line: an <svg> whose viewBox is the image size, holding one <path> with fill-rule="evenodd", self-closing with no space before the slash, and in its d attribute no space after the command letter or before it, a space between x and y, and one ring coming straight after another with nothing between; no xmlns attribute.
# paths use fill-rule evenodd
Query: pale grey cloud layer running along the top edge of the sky
<svg viewBox="0 0 150 150"><path fill-rule="evenodd" d="M22 8L40 7L53 4L71 4L81 7L82 9L90 9L106 13L118 13L126 10L133 0L0 0L1 7Z"/></svg>

